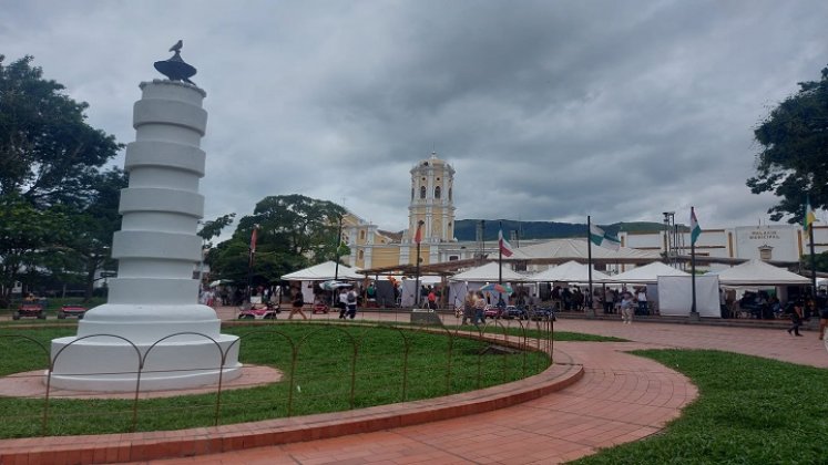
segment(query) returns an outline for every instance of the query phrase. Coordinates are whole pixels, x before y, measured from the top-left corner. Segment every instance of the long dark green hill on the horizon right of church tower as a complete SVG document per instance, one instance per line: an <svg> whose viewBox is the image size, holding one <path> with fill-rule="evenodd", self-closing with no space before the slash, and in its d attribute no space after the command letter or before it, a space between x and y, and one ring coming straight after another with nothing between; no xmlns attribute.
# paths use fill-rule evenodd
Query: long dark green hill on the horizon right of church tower
<svg viewBox="0 0 828 465"><path fill-rule="evenodd" d="M459 219L454 223L454 237L458 240L477 239L477 227L479 219ZM499 224L503 225L503 235L511 237L513 230L520 230L521 239L561 239L568 237L585 237L585 223L556 223L556 221L515 221L511 219L487 219L484 240L495 240L498 238ZM614 223L612 225L599 225L610 234L617 234L620 230L631 232L650 232L664 229L661 223L634 221L634 223ZM682 230L685 226L679 225Z"/></svg>

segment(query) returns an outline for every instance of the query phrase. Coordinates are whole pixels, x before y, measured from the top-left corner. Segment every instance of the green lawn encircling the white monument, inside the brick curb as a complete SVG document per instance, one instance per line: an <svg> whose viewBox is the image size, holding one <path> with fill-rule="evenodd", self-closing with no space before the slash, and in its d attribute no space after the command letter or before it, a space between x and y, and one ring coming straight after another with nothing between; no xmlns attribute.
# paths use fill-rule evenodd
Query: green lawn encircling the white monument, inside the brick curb
<svg viewBox="0 0 828 465"><path fill-rule="evenodd" d="M12 332L40 341L48 351L51 339L73 335L75 329L0 330L0 334ZM244 363L275 366L287 375L294 363L292 347L297 348L297 356L293 388L286 379L268 386L223 392L219 424L466 392L519 380L549 365L542 353L487 355L481 354L489 345L485 342L389 328L278 323L225 328L223 332L243 338L239 359ZM20 338L0 338L0 375L48 366L48 353ZM142 400L134 430L213 425L216 400L216 394ZM0 397L0 437L40 435L43 404L42 399ZM51 400L47 434L129 432L133 430L132 409L133 402L125 400Z"/></svg>

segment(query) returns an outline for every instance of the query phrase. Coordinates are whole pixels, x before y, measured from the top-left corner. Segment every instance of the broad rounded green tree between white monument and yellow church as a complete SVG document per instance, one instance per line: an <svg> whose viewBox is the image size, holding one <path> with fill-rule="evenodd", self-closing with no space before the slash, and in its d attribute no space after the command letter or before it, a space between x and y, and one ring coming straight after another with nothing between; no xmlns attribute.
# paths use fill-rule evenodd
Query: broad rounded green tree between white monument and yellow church
<svg viewBox="0 0 828 465"><path fill-rule="evenodd" d="M222 279L246 282L249 240L256 226L254 286L330 260L339 244L339 218L345 213L337 204L298 194L265 197L256 204L253 215L239 219L233 237L211 251L211 269Z"/></svg>

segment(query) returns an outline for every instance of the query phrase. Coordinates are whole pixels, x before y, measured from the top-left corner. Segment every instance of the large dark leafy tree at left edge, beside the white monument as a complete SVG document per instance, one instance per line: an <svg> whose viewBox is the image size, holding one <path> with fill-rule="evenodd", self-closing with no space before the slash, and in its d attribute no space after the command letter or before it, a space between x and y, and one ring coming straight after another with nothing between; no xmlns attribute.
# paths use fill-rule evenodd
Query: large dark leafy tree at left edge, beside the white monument
<svg viewBox="0 0 828 465"><path fill-rule="evenodd" d="M88 104L43 79L32 58L0 55L0 285L72 262L70 231L95 198L100 167L121 145L86 124ZM105 175L103 175L105 176ZM112 240L109 235L108 241Z"/></svg>

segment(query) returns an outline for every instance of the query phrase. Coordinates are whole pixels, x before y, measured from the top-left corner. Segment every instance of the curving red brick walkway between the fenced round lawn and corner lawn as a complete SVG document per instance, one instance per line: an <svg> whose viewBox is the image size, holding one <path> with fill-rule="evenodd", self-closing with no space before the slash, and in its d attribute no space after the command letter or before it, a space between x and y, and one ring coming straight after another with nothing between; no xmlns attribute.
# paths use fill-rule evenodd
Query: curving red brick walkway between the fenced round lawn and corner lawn
<svg viewBox="0 0 828 465"><path fill-rule="evenodd" d="M560 342L559 362L584 363L574 385L492 412L321 441L164 464L550 464L646 437L696 396L688 380L622 351L637 343Z"/></svg>

